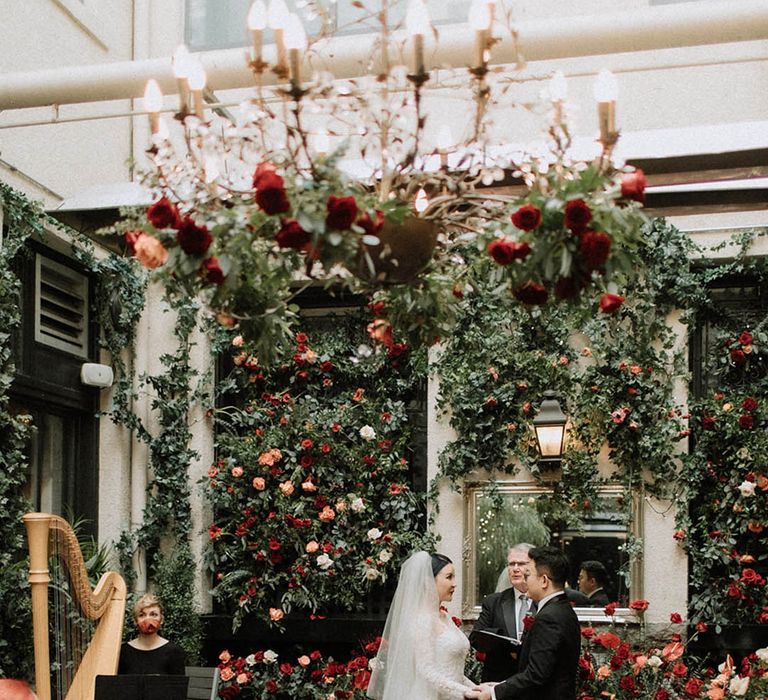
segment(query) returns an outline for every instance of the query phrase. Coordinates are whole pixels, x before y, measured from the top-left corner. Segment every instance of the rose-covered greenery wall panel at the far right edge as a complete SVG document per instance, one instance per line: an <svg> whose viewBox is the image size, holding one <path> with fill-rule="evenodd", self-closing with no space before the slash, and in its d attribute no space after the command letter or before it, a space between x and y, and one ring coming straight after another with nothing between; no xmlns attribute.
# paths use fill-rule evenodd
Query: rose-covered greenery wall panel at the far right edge
<svg viewBox="0 0 768 700"><path fill-rule="evenodd" d="M687 478L696 499L675 537L696 552L691 615L718 631L768 625L766 401L715 391L694 409L697 449Z"/></svg>

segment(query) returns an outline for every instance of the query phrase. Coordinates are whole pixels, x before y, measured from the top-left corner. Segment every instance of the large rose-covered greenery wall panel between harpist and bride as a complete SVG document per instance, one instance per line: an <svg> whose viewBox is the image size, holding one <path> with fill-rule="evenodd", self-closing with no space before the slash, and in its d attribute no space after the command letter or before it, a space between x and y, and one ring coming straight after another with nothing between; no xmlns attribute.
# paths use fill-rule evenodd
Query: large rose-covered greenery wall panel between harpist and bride
<svg viewBox="0 0 768 700"><path fill-rule="evenodd" d="M341 323L317 344L299 332L272 372L232 340L239 406L216 413L205 493L213 594L236 625L359 609L430 541L408 472L417 358L351 352L351 332Z"/></svg>

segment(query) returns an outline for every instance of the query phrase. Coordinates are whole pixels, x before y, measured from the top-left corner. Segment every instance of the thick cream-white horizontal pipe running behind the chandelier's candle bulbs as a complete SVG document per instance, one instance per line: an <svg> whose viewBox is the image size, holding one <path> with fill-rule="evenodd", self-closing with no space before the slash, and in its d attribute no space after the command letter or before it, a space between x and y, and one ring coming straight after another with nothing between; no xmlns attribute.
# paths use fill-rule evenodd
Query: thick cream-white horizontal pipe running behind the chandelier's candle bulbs
<svg viewBox="0 0 768 700"><path fill-rule="evenodd" d="M520 56L526 61L753 41L768 36L768 2L686 3L523 22L516 29ZM466 66L473 42L473 32L466 25L442 27L439 44L427 46L427 68ZM359 36L319 42L317 53L328 58L313 60L307 69L322 67L337 78L359 76L365 72L369 44ZM244 49L228 49L200 54L211 89L253 85L245 53ZM274 62L274 53L274 46L265 47L264 59ZM494 46L492 60L499 64L517 61L510 37ZM273 77L265 73L264 82L274 82ZM150 78L160 83L163 92L176 92L169 58L11 73L0 78L0 110L140 97Z"/></svg>

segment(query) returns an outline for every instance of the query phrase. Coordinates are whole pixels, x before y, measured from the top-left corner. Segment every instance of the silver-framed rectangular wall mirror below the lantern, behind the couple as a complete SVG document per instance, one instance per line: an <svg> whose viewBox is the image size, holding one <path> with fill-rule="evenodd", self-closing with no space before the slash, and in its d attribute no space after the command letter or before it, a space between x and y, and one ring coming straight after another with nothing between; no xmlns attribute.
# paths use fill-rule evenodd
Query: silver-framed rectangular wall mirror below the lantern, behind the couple
<svg viewBox="0 0 768 700"><path fill-rule="evenodd" d="M578 590L582 562L598 561L606 569L605 590L609 601L622 606L640 597L639 566L629 567L624 545L628 535L624 489L604 486L590 517L581 527L554 522L547 501L551 487L537 483L477 482L465 486L465 553L463 613L480 612L485 596L509 587L507 552L510 545L527 542L562 549L571 562L568 585ZM637 513L633 502L633 514ZM637 518L633 517L633 521ZM631 586L622 571L629 569ZM604 616L603 604L579 606L582 619Z"/></svg>

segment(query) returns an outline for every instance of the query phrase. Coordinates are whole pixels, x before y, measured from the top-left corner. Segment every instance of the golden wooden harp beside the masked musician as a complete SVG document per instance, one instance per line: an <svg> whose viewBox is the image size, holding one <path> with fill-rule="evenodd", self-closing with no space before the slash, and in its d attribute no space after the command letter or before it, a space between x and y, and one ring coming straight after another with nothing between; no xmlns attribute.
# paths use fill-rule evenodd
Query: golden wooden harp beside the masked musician
<svg viewBox="0 0 768 700"><path fill-rule="evenodd" d="M93 700L96 676L115 675L126 587L115 571L91 590L77 537L57 515L27 513L29 583L39 700Z"/></svg>

